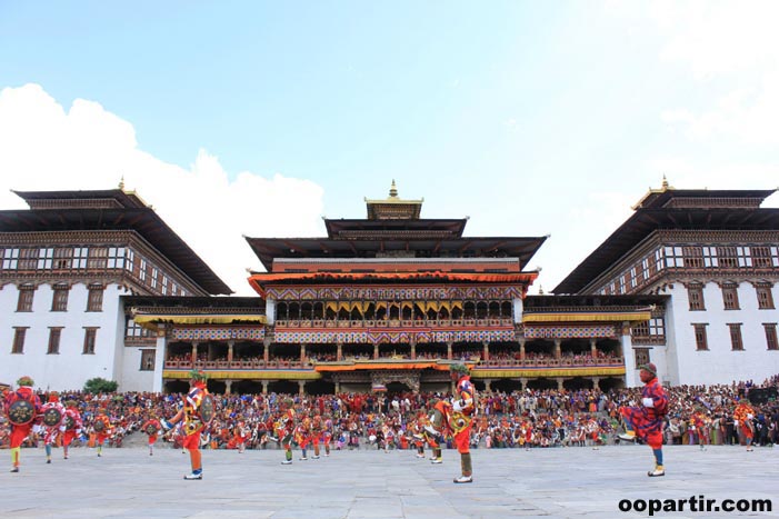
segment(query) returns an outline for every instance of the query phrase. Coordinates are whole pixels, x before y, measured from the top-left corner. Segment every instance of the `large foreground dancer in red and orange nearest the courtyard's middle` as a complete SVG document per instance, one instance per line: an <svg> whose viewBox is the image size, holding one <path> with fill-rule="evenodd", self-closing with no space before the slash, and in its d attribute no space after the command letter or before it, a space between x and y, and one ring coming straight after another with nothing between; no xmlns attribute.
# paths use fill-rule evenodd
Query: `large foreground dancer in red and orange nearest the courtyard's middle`
<svg viewBox="0 0 779 519"><path fill-rule="evenodd" d="M451 365L449 368L452 381L457 382L455 396L451 402L441 400L436 403L430 416L430 426L426 427L428 432L437 431L443 436L445 431L450 431L457 451L460 453L460 469L462 475L455 478L456 483L470 483L473 481L473 467L470 453L470 433L473 415L476 415L476 388L470 380L470 371L465 365ZM441 462L440 446L433 447L433 463Z"/></svg>

